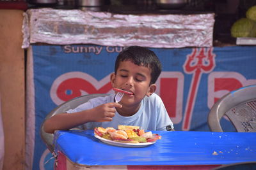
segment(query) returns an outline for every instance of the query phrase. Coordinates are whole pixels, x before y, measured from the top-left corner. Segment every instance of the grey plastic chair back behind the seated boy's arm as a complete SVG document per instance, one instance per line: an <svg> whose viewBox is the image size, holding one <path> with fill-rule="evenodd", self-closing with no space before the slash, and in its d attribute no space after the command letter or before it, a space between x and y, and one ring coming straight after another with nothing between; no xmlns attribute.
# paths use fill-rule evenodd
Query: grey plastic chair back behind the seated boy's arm
<svg viewBox="0 0 256 170"><path fill-rule="evenodd" d="M86 103L90 99L95 98L95 97L100 97L100 96L102 96L102 97L109 96L109 94L87 94L84 96L79 96L74 99L71 99L70 101L67 101L67 102L61 104L60 106L54 108L54 110L52 110L45 117L45 120L52 117L53 115L57 115L58 113L65 113L65 111L67 111L67 110L74 109L77 106L79 106L80 104ZM45 122L45 120L44 120L44 122ZM40 127L40 136L41 136L42 140L44 141L45 145L47 146L47 148L50 150L50 152L53 153L54 152L53 134L49 134L44 131L44 122L42 122L41 127Z"/></svg>

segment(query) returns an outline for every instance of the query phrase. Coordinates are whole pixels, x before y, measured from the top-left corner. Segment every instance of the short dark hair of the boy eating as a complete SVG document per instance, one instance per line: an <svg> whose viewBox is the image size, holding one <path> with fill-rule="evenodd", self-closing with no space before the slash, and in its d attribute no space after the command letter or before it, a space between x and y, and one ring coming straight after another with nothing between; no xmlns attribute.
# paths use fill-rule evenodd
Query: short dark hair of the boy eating
<svg viewBox="0 0 256 170"><path fill-rule="evenodd" d="M131 61L138 66L145 66L151 69L151 81L150 85L156 83L162 71L162 65L156 54L148 48L141 46L129 46L122 50L116 57L115 62L115 74L122 61Z"/></svg>

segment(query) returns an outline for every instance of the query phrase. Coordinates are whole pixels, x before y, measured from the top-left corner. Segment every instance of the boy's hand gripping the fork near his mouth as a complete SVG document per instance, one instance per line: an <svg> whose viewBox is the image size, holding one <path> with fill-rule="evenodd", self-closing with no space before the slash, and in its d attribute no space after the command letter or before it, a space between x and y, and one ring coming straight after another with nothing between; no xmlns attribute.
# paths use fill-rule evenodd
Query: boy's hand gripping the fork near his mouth
<svg viewBox="0 0 256 170"><path fill-rule="evenodd" d="M116 108L122 108L119 103L106 103L93 108L93 122L111 122L115 117Z"/></svg>

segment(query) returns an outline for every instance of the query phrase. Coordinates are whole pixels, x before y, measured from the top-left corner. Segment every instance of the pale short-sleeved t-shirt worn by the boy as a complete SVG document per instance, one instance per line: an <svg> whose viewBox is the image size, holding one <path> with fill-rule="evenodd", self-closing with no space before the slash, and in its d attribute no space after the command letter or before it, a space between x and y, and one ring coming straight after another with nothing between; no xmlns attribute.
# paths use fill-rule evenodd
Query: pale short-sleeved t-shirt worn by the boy
<svg viewBox="0 0 256 170"><path fill-rule="evenodd" d="M114 101L115 94L106 97L96 97L83 103L74 110L68 110L67 113L88 110L95 108L100 104L111 103ZM173 129L173 123L164 107L163 101L157 94L150 97L145 96L141 101L140 110L131 117L123 117L117 112L111 122L88 122L79 126L81 129L94 129L95 127L113 127L117 129L118 125L137 125L147 131L170 131Z"/></svg>

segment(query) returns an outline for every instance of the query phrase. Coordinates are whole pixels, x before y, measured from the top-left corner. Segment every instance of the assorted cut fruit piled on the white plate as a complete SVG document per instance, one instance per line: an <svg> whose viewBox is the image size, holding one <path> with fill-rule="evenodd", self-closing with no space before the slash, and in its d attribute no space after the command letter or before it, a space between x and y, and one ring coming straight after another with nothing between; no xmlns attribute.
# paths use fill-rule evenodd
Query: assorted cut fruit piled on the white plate
<svg viewBox="0 0 256 170"><path fill-rule="evenodd" d="M146 143L155 142L161 139L159 134L145 132L139 126L118 125L118 129L113 127L95 127L94 134L101 138L121 143Z"/></svg>

